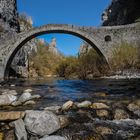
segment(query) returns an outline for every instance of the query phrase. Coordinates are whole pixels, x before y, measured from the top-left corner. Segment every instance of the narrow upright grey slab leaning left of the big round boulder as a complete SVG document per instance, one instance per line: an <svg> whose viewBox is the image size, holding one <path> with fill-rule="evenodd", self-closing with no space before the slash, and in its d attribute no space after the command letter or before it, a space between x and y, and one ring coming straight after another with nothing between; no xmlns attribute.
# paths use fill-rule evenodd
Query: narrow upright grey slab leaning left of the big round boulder
<svg viewBox="0 0 140 140"><path fill-rule="evenodd" d="M27 132L25 130L25 124L22 119L14 121L11 125L15 128L15 135L17 140L27 140Z"/></svg>

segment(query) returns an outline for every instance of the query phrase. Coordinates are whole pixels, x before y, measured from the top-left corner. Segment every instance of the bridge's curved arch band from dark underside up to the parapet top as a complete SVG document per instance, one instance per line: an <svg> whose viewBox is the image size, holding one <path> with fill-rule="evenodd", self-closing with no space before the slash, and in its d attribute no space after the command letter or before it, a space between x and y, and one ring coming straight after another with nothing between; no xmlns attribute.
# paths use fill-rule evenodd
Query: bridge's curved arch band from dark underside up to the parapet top
<svg viewBox="0 0 140 140"><path fill-rule="evenodd" d="M100 46L94 40L92 35L90 35L88 32L83 30L82 27L77 27L73 25L46 25L42 27L33 28L29 31L18 34L16 41L14 41L10 46L10 51L5 59L4 79L8 79L11 63L20 48L22 48L22 46L26 44L28 41L30 41L31 39L40 35L50 34L50 33L70 34L83 39L84 41L89 43L97 51L97 53L103 58L103 60L108 64L108 57L104 53L102 46Z"/></svg>

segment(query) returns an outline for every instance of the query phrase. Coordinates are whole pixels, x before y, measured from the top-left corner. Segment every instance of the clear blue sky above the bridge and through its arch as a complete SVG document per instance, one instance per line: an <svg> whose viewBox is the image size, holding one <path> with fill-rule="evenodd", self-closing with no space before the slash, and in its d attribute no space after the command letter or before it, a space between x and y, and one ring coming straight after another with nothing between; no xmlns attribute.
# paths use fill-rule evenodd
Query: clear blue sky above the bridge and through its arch
<svg viewBox="0 0 140 140"><path fill-rule="evenodd" d="M111 0L17 0L19 13L33 19L33 26L46 24L74 24L100 26L101 14ZM41 36L48 42L57 39L57 48L65 55L78 52L81 39L64 34Z"/></svg>

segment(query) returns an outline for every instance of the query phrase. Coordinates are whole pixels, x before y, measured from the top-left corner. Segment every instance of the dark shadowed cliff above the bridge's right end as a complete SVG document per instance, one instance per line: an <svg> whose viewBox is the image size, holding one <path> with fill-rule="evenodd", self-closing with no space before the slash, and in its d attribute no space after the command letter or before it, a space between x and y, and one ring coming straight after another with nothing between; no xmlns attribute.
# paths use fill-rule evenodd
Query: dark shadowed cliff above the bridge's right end
<svg viewBox="0 0 140 140"><path fill-rule="evenodd" d="M103 26L125 25L140 21L140 0L112 0L102 14Z"/></svg>

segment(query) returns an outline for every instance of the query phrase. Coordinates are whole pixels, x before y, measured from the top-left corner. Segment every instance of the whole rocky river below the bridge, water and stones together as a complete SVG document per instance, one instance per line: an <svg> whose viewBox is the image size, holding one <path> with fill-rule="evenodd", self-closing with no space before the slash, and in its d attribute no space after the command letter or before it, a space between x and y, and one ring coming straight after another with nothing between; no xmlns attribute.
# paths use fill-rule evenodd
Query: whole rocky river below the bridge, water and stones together
<svg viewBox="0 0 140 140"><path fill-rule="evenodd" d="M139 82L9 81L0 88L0 140L138 140Z"/></svg>

